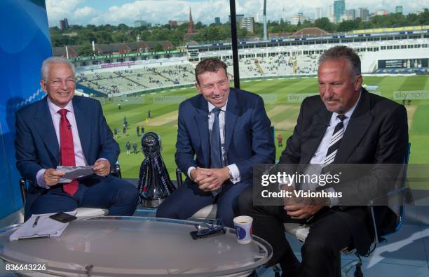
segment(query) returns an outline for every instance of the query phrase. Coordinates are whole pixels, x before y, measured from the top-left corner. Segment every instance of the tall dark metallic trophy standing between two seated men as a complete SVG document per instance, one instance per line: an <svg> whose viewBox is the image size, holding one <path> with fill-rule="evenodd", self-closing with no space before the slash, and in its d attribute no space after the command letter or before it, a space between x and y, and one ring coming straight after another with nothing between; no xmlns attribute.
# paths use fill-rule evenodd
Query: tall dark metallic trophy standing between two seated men
<svg viewBox="0 0 429 277"><path fill-rule="evenodd" d="M140 204L149 208L158 207L176 189L168 176L161 150L161 137L158 134L149 132L142 136L145 158L140 166L138 190Z"/></svg>

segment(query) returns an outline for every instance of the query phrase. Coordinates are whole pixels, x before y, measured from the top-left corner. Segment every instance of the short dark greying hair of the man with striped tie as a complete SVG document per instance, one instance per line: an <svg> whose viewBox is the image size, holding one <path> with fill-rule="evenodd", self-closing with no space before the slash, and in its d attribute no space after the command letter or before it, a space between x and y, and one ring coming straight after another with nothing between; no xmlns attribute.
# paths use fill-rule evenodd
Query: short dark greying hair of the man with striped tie
<svg viewBox="0 0 429 277"><path fill-rule="evenodd" d="M360 76L360 57L353 48L344 45L334 46L326 50L319 58L319 66L322 62L346 59L353 76Z"/></svg>

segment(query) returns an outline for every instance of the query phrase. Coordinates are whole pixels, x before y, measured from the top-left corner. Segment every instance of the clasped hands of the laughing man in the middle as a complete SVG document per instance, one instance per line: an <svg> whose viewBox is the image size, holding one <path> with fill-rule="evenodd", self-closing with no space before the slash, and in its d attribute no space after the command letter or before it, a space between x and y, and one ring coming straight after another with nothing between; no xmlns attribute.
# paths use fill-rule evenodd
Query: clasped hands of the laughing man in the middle
<svg viewBox="0 0 429 277"><path fill-rule="evenodd" d="M231 178L228 167L223 169L204 169L197 167L191 170L191 178L200 190L210 192L219 189L222 184Z"/></svg>

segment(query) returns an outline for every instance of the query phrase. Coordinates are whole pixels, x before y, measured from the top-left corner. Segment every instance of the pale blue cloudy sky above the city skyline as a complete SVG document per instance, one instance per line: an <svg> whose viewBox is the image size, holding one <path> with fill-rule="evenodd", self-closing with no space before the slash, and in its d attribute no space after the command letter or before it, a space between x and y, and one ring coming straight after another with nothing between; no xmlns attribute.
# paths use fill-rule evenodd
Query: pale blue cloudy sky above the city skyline
<svg viewBox="0 0 429 277"><path fill-rule="evenodd" d="M333 0L267 0L268 20L280 20L304 13L313 18L315 8L322 7L326 16ZM236 0L237 13L255 16L262 20L263 0ZM403 6L404 13L429 8L429 0L346 0L346 9L367 7L369 12L384 8L389 12L395 6ZM229 0L46 0L50 26L58 26L60 19L67 17L69 24L120 24L134 26L135 20L166 24L168 20L187 20L189 8L193 20L205 24L214 22L214 17L228 20ZM283 11L284 10L284 11Z"/></svg>

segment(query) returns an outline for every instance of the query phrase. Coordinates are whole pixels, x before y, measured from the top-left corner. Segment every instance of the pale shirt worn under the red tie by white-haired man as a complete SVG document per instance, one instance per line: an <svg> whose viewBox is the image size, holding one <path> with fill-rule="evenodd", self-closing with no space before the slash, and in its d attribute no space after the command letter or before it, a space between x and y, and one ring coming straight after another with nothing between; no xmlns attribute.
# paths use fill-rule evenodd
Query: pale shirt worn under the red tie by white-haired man
<svg viewBox="0 0 429 277"><path fill-rule="evenodd" d="M61 115L60 113L57 113L62 108L55 105L50 101L48 97L48 107L50 116L53 121L53 125L55 128L55 134L57 135L57 141L58 145L61 149L61 141L60 141L60 120ZM86 162L85 155L83 155L83 149L81 145L81 139L79 138L79 130L76 125L76 118L74 118L74 109L73 104L71 104L71 101L67 104L67 106L64 107L68 112L66 114L67 120L69 120L69 123L71 125L71 134L73 136L73 147L74 147L74 160L76 161L76 166L87 166L88 162ZM37 179L37 185L40 187L49 188L48 185L45 183L45 179L43 178L43 174L45 173L46 169L40 169L37 171L36 179Z"/></svg>

